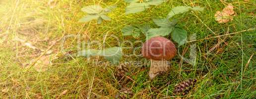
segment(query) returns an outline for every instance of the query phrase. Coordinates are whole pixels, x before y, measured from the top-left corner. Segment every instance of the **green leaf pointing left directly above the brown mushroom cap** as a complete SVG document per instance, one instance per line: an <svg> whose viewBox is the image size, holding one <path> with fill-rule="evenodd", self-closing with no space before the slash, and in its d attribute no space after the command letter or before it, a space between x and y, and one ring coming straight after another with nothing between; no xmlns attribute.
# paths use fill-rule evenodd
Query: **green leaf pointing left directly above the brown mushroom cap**
<svg viewBox="0 0 256 99"><path fill-rule="evenodd" d="M173 28L153 28L149 29L146 35L146 40L156 36L167 36L173 31Z"/></svg>

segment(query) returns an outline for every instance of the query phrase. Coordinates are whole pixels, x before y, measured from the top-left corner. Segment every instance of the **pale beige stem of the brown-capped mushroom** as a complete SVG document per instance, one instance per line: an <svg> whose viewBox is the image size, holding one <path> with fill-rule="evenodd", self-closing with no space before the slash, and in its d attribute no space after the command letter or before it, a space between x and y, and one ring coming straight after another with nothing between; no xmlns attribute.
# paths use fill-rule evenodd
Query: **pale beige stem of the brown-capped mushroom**
<svg viewBox="0 0 256 99"><path fill-rule="evenodd" d="M167 60L150 60L151 66L149 70L150 79L154 79L157 75L169 70Z"/></svg>

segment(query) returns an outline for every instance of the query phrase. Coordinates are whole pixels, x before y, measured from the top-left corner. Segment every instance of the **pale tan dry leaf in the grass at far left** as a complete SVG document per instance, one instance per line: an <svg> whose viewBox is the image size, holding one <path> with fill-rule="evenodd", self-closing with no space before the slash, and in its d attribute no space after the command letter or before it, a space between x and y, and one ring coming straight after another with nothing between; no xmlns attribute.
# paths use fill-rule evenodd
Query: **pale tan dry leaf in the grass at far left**
<svg viewBox="0 0 256 99"><path fill-rule="evenodd" d="M55 55L43 55L36 61L34 68L38 72L44 72L48 69L49 66L52 65L52 60L57 59ZM35 60L33 60L35 61Z"/></svg>

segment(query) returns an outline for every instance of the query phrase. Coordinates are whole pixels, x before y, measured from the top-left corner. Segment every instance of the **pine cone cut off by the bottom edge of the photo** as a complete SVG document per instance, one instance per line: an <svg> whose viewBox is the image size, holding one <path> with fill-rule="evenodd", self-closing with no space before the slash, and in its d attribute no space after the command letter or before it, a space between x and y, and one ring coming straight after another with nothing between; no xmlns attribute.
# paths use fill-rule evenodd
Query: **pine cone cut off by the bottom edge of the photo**
<svg viewBox="0 0 256 99"><path fill-rule="evenodd" d="M115 99L129 99L133 96L133 93L128 88L122 88L120 93L116 95Z"/></svg>

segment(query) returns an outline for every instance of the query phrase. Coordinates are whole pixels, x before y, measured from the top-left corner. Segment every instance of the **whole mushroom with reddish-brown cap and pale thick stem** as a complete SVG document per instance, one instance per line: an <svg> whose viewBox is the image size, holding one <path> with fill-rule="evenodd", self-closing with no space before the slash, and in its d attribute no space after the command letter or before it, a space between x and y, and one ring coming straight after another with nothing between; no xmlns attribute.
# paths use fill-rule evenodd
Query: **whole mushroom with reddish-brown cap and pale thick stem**
<svg viewBox="0 0 256 99"><path fill-rule="evenodd" d="M172 41L160 36L153 37L143 44L141 50L142 56L146 59L150 59L151 63L149 70L150 79L169 70L167 60L172 59L176 51Z"/></svg>

